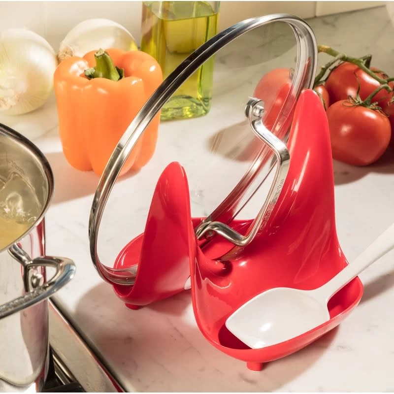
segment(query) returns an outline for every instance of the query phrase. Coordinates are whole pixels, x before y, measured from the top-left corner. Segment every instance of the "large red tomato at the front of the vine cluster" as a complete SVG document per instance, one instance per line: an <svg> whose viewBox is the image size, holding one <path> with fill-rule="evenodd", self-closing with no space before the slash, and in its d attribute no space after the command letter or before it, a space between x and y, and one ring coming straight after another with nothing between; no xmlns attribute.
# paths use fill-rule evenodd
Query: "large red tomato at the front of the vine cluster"
<svg viewBox="0 0 394 394"><path fill-rule="evenodd" d="M332 157L336 160L368 165L378 160L389 145L390 121L380 111L340 100L328 107L327 118Z"/></svg>

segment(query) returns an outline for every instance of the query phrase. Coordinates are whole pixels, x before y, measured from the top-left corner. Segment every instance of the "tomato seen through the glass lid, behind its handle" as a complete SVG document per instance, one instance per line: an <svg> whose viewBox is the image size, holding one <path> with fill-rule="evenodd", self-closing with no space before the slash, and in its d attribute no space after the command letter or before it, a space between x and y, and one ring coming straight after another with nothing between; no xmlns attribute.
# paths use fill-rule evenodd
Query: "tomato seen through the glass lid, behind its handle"
<svg viewBox="0 0 394 394"><path fill-rule="evenodd" d="M273 127L278 119L279 114L287 114L286 119L282 119L284 124L282 130L288 129L293 119L293 109L283 108L284 103L292 87L292 70L290 68L275 68L260 79L257 84L253 97L261 99L264 102L263 123L265 127L274 131Z"/></svg>

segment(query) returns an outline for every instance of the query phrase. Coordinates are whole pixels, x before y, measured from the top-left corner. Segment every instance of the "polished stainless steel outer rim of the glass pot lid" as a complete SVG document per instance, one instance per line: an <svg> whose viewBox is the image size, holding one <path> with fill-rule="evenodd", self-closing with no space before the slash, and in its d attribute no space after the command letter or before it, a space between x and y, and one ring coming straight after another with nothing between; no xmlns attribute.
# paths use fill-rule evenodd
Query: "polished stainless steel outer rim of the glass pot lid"
<svg viewBox="0 0 394 394"><path fill-rule="evenodd" d="M298 59L295 74L298 88L302 79L306 79L306 85L312 87L317 66L316 39L312 29L304 20L290 14L272 14L257 18L250 18L243 22L239 22L202 44L194 53L182 62L164 80L164 82L137 113L119 140L118 145L114 149L104 172L100 177L89 218L89 241L92 262L97 268L100 276L105 281L130 285L133 283L133 279L135 278L135 273L131 272L130 269L120 270L103 265L99 260L97 246L100 221L106 202L123 164L126 162L131 150L137 143L143 131L175 90L207 59L212 57L219 51L219 49L229 44L240 35L275 21L289 24L296 36Z"/></svg>

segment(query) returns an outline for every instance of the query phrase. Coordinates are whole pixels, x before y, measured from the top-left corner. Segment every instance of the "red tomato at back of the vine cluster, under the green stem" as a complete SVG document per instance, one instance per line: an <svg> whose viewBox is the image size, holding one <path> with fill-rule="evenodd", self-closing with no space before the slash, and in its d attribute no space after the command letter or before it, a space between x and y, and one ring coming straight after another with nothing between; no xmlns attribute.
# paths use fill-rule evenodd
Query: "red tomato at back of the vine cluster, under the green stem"
<svg viewBox="0 0 394 394"><path fill-rule="evenodd" d="M376 68L371 67L371 70L376 70ZM380 78L387 78L387 75L382 72L377 72L376 75ZM345 62L330 72L325 82L325 87L332 103L339 100L346 100L349 96L355 97L359 84L359 95L362 100L365 100L380 86L380 83L376 79L361 70L361 68L352 63ZM394 87L393 82L389 85ZM377 101L379 105L382 105L383 102L387 102L390 99L389 96L389 93L382 89L373 97L372 102Z"/></svg>

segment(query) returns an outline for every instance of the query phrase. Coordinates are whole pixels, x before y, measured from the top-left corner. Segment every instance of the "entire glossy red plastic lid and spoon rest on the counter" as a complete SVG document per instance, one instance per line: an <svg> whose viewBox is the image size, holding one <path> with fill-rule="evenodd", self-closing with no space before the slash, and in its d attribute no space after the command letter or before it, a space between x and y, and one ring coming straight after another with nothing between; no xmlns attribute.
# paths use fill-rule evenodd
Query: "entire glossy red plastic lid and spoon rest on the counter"
<svg viewBox="0 0 394 394"><path fill-rule="evenodd" d="M155 190L144 236L131 241L115 263L116 268L139 263L135 285L115 286L118 296L126 303L144 305L182 291L190 272L199 329L217 349L247 361L254 370L337 326L361 299L358 278L330 299L328 322L289 341L250 349L225 327L232 312L264 290L314 289L347 264L335 229L327 117L310 90L298 99L288 148L290 169L274 211L243 248L220 236L201 247L194 234L200 219L191 218L186 175L179 164L169 164ZM233 221L230 226L242 232L250 223Z"/></svg>

